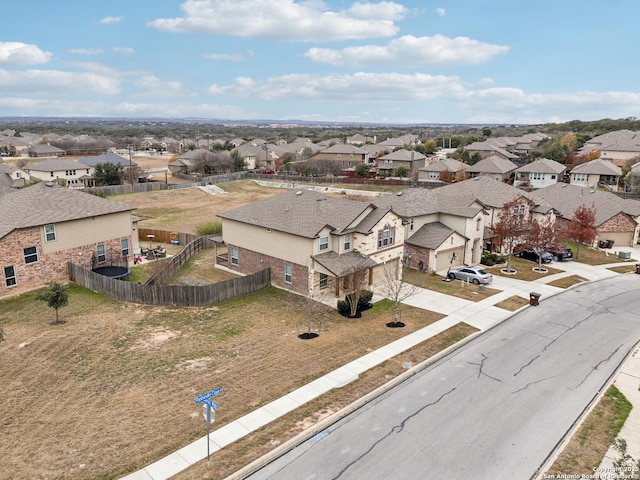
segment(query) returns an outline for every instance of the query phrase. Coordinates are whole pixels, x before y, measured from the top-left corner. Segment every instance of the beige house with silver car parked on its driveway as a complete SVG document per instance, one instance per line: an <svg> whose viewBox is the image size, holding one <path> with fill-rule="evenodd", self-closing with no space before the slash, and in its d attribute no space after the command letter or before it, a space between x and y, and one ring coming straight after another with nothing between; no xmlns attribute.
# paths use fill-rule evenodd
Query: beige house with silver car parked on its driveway
<svg viewBox="0 0 640 480"><path fill-rule="evenodd" d="M412 188L373 200L407 220L404 263L410 268L434 272L480 263L485 206L442 190Z"/></svg>

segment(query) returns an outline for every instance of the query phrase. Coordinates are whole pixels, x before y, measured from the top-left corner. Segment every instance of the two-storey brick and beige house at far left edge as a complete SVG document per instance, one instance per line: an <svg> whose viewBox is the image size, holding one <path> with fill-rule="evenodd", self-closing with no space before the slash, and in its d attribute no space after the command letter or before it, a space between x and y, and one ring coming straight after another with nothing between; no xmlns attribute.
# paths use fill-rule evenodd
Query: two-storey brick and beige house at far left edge
<svg viewBox="0 0 640 480"><path fill-rule="evenodd" d="M0 297L64 281L85 268L132 260L132 207L41 182L0 195Z"/></svg>

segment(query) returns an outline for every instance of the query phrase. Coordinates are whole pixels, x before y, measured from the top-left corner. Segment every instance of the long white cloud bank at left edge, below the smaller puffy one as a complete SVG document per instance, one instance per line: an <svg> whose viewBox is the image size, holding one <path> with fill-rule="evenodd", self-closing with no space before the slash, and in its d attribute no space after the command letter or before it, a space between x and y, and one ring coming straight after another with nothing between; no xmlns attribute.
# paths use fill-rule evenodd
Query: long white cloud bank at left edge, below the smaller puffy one
<svg viewBox="0 0 640 480"><path fill-rule="evenodd" d="M120 93L120 80L113 76L92 72L63 72L58 70L0 70L0 89L9 94L100 94Z"/></svg>

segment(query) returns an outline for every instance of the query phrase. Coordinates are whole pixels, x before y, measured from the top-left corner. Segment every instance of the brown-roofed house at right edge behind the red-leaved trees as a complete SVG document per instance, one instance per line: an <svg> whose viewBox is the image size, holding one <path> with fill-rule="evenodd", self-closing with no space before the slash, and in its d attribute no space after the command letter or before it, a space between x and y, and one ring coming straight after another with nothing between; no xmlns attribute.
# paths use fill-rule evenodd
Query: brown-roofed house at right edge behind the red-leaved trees
<svg viewBox="0 0 640 480"><path fill-rule="evenodd" d="M596 214L598 240L613 240L616 247L630 247L638 243L640 201L623 199L602 190L558 183L531 192L537 203L550 205L560 222L569 221L579 206L593 207Z"/></svg>

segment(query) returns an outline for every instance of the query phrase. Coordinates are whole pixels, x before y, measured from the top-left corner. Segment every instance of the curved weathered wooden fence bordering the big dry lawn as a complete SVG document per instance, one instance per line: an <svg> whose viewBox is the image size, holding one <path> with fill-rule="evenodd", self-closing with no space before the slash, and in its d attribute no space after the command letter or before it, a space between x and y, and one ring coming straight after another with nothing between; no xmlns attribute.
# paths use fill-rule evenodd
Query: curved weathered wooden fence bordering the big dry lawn
<svg viewBox="0 0 640 480"><path fill-rule="evenodd" d="M145 305L201 307L248 295L271 284L267 268L246 277L232 278L211 285L140 285L114 280L69 262L69 279L90 290L122 302Z"/></svg>

